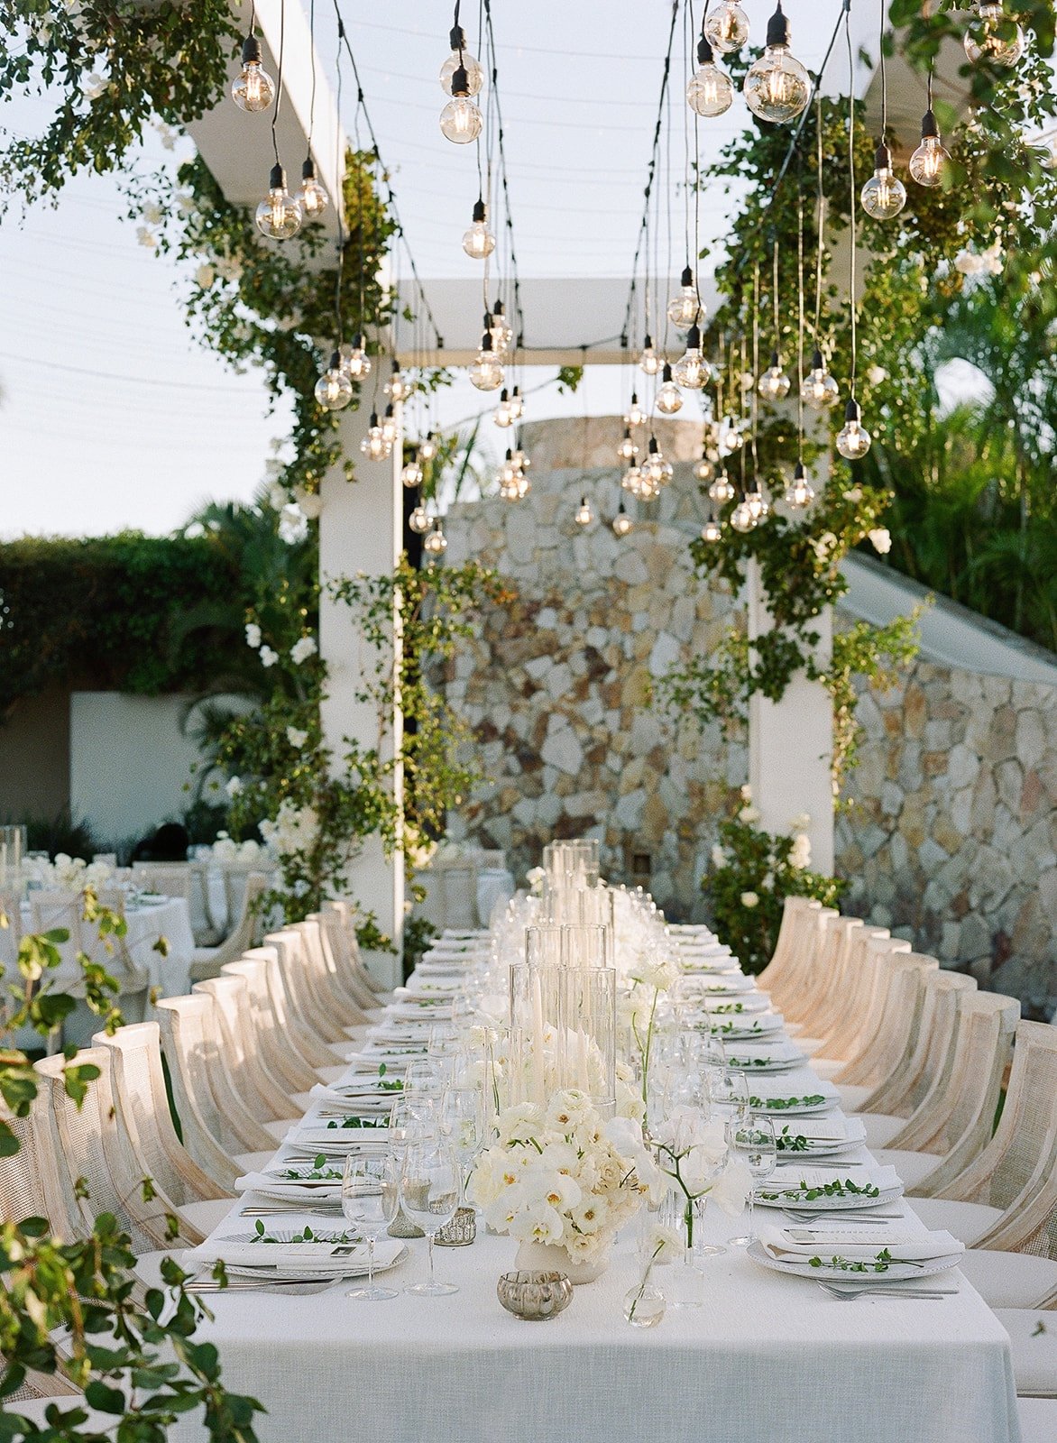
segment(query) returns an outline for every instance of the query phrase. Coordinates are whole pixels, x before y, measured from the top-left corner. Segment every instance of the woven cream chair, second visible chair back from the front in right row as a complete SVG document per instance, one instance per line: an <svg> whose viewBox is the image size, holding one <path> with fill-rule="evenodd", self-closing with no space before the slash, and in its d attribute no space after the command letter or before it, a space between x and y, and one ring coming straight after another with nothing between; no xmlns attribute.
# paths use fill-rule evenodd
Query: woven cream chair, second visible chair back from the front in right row
<svg viewBox="0 0 1057 1443"><path fill-rule="evenodd" d="M879 1149L908 1189L937 1196L991 1141L1002 1079L1012 1058L1019 1003L998 993L966 993L946 1088L931 1113L907 1131L914 1150Z"/></svg>

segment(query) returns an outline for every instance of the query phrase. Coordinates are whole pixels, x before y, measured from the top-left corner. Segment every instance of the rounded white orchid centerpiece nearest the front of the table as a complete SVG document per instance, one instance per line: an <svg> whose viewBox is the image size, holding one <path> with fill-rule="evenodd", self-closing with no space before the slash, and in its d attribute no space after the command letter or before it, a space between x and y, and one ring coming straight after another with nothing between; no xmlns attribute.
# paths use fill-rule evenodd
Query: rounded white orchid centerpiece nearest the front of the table
<svg viewBox="0 0 1057 1443"><path fill-rule="evenodd" d="M638 1124L606 1123L569 1088L547 1105L518 1102L500 1114L468 1195L495 1232L517 1240L518 1268L591 1283L608 1267L617 1231L661 1183Z"/></svg>

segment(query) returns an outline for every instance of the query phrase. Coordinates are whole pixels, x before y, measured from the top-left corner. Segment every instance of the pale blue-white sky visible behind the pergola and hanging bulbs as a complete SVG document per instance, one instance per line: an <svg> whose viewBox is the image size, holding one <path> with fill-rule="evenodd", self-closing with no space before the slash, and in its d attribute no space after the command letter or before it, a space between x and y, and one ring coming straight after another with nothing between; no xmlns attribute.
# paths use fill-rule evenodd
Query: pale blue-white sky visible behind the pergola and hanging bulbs
<svg viewBox="0 0 1057 1443"><path fill-rule="evenodd" d="M773 0L744 4L760 36ZM839 7L840 0L787 6L793 48L806 65L820 61ZM426 293L430 277L479 274L461 248L477 196L472 160L438 128L448 7L436 0L406 0L399 9L341 0L341 12ZM494 0L492 12L520 274L628 276L669 0ZM318 3L316 13L329 76L334 12ZM477 49L475 6L464 7L464 20ZM683 144L682 65L680 56L673 172ZM347 98L349 92L347 84ZM702 126L705 160L745 115L738 100ZM38 133L46 118L46 98L0 107L0 126L16 134ZM351 128L351 100L344 118ZM136 160L150 170L173 154L152 131ZM293 160L287 166L293 170ZM679 232L682 201L673 206ZM124 212L113 176L82 175L56 208L35 206L22 216L13 206L0 221L1 537L172 531L208 499L248 499L271 439L284 434L284 416L267 414L260 377L234 375L196 343L183 322L175 263L143 248L137 221ZM725 229L726 202L706 198L702 240L709 250ZM682 248L679 235L673 248ZM680 264L676 254L676 273ZM528 385L546 380L528 377ZM622 391L619 375L599 368L576 397L562 397L553 385L540 391L530 416L615 411ZM488 404L461 377L442 394L439 418L449 424Z"/></svg>

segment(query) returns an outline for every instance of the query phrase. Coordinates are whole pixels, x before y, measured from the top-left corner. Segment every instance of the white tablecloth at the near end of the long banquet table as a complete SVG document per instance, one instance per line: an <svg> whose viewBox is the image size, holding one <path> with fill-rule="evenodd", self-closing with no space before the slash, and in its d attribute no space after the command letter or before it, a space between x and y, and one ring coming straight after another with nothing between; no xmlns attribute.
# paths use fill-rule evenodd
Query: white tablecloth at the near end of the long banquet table
<svg viewBox="0 0 1057 1443"><path fill-rule="evenodd" d="M810 1091L817 1078L803 1066L786 1082ZM214 1237L253 1227L238 1216L244 1202ZM901 1206L915 1222L910 1202ZM318 1214L267 1222L321 1225ZM709 1241L738 1231L736 1219L708 1209ZM348 1283L312 1296L209 1294L214 1322L204 1336L219 1348L228 1387L267 1408L263 1443L1019 1440L1006 1333L957 1270L943 1274L944 1286L957 1281L956 1296L839 1302L731 1248L703 1264L702 1309L669 1309L644 1332L622 1316L638 1270L634 1224L609 1270L546 1325L520 1322L498 1303L495 1283L516 1251L510 1238L481 1228L472 1247L439 1248L438 1276L459 1284L448 1297L403 1293L423 1276L425 1250L412 1241L386 1274L401 1289L391 1302L347 1299ZM656 1281L664 1286L663 1267Z"/></svg>

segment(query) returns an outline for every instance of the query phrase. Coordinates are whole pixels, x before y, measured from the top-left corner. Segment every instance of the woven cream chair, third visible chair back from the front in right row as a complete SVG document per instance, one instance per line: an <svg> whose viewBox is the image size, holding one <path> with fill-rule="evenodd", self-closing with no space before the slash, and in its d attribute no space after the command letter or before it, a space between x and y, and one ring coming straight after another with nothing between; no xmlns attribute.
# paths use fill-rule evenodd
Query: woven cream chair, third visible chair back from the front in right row
<svg viewBox="0 0 1057 1443"><path fill-rule="evenodd" d="M926 975L917 1036L907 1039L905 1061L856 1108L866 1128L868 1147L902 1146L892 1139L902 1133L930 1092L944 1085L954 1055L960 997L970 991L976 991L976 978L965 973L940 970Z"/></svg>

